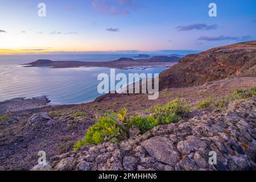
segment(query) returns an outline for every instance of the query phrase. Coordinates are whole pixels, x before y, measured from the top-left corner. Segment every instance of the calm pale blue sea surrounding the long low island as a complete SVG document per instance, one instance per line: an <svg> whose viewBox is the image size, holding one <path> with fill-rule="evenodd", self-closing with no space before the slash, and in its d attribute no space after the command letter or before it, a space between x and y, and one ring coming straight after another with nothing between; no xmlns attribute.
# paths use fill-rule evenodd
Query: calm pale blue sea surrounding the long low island
<svg viewBox="0 0 256 182"><path fill-rule="evenodd" d="M0 56L0 101L46 95L53 104L92 101L98 96L97 76L109 68L26 68L20 64L37 59L109 61L137 55L15 55ZM166 68L115 69L117 73L160 73Z"/></svg>

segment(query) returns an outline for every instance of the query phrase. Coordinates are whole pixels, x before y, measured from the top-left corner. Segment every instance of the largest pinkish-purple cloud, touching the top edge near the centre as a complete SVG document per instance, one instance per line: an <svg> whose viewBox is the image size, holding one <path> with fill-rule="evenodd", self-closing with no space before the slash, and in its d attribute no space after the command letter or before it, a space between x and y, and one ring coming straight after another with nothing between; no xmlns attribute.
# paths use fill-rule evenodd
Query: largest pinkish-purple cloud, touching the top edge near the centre
<svg viewBox="0 0 256 182"><path fill-rule="evenodd" d="M104 14L128 15L129 10L135 10L139 6L133 0L93 0L92 7Z"/></svg>

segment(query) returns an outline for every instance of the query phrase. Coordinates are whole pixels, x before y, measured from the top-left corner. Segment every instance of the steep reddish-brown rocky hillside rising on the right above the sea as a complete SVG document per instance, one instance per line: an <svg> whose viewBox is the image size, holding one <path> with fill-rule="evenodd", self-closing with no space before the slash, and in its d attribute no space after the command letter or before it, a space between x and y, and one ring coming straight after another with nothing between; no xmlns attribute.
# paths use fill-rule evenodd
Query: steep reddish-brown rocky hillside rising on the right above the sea
<svg viewBox="0 0 256 182"><path fill-rule="evenodd" d="M256 41L232 44L183 57L159 76L160 89L201 85L256 73Z"/></svg>

